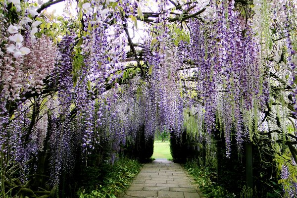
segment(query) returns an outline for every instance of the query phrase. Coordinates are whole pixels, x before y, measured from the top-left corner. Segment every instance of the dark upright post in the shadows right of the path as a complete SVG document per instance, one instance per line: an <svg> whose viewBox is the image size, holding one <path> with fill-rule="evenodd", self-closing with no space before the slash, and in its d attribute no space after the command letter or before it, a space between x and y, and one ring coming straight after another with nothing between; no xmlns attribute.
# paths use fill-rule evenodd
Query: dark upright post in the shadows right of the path
<svg viewBox="0 0 297 198"><path fill-rule="evenodd" d="M252 182L252 144L246 143L246 171L247 171L247 187L253 190Z"/></svg>

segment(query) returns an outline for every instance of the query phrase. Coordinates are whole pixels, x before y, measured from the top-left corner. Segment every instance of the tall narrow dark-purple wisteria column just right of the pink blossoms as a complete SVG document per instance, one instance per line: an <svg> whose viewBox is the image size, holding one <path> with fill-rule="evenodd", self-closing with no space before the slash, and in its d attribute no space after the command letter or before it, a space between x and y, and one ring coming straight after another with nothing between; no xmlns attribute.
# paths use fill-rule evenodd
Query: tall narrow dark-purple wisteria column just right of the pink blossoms
<svg viewBox="0 0 297 198"><path fill-rule="evenodd" d="M57 97L48 101L53 185L58 184L62 173L72 172L77 155L75 152L80 143L80 134L71 120L71 105L74 100L73 49L74 36L64 36L58 44L56 67L50 75L51 85L57 90Z"/></svg>

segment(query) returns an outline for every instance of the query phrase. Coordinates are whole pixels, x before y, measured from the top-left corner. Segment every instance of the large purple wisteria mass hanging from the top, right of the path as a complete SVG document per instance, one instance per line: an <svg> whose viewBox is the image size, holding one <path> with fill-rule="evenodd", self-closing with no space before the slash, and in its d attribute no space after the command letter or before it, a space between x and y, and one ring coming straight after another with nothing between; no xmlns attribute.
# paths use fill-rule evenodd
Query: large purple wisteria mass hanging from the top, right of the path
<svg viewBox="0 0 297 198"><path fill-rule="evenodd" d="M196 87L192 84L190 88L196 89L203 99L205 113L199 113L204 114L208 140L214 131L215 118L223 118L219 120L224 126L227 156L232 129L239 148L248 138L245 114L253 109L260 89L259 49L252 38L250 24L243 26L243 18L234 3L234 0L210 3L216 10L209 18L210 25L201 20L191 22L188 56L193 65L184 66L194 73L190 78L195 79Z"/></svg>

